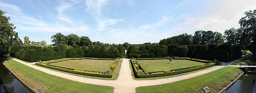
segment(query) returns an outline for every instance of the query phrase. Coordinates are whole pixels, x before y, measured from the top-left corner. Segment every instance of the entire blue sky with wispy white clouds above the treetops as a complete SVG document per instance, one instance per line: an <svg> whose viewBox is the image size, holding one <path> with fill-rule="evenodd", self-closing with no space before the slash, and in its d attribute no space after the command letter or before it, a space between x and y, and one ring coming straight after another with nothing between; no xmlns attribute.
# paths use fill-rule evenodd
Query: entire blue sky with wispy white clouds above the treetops
<svg viewBox="0 0 256 93"><path fill-rule="evenodd" d="M22 40L52 44L50 37L61 32L103 43L153 43L197 30L238 28L256 0L0 0L0 9Z"/></svg>

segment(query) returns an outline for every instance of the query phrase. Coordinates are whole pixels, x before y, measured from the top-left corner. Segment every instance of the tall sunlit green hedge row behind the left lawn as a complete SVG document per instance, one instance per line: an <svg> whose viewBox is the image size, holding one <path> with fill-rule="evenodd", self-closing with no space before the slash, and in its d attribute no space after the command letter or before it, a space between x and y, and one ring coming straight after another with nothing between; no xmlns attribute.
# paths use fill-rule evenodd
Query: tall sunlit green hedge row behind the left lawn
<svg viewBox="0 0 256 93"><path fill-rule="evenodd" d="M35 45L17 45L11 48L10 55L27 62L38 62L47 60L56 60L61 58L123 58L124 48L119 45L117 48L111 47L109 49L105 46L98 45L82 48L77 45L65 46L35 46Z"/></svg>

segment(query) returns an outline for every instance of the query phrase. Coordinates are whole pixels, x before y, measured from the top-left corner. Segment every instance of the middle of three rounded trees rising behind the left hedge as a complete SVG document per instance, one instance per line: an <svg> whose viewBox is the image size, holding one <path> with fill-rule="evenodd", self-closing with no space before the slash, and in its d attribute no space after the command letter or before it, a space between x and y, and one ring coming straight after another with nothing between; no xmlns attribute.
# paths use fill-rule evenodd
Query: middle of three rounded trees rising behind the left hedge
<svg viewBox="0 0 256 93"><path fill-rule="evenodd" d="M74 45L74 44L79 44L80 43L80 37L76 34L69 34L67 36L65 36L67 39L67 45Z"/></svg>

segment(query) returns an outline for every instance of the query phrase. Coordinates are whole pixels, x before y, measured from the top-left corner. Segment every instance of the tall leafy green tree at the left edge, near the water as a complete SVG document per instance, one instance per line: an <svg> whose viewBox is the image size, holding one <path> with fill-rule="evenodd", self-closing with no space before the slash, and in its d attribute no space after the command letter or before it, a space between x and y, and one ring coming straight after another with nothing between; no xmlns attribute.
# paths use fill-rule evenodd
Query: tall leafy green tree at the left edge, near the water
<svg viewBox="0 0 256 93"><path fill-rule="evenodd" d="M6 12L0 10L0 54L8 54L9 48L13 45L22 44L18 33L14 31L16 28L9 23L10 17L6 16Z"/></svg>

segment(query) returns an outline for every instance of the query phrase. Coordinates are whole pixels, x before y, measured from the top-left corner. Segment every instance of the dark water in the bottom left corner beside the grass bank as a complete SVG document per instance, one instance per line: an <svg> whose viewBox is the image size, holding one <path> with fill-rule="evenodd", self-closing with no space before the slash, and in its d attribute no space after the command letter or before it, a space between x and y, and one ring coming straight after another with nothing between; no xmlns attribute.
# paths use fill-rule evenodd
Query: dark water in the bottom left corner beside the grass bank
<svg viewBox="0 0 256 93"><path fill-rule="evenodd" d="M4 59L0 58L0 93L30 93L24 85L4 67Z"/></svg>

